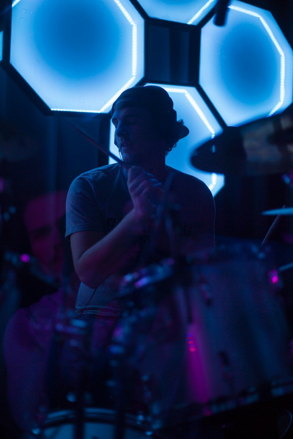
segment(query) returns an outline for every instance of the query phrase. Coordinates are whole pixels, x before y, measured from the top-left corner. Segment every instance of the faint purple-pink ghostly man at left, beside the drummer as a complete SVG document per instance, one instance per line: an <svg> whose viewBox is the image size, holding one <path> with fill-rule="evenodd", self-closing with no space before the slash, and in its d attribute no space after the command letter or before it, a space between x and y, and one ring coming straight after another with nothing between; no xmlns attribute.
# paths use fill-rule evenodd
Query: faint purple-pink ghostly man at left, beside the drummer
<svg viewBox="0 0 293 439"><path fill-rule="evenodd" d="M34 295L28 291L30 296L22 300L22 306L26 303L29 306L16 311L4 334L10 410L19 428L25 432L38 426L40 412L48 406L46 378L54 347L55 324L61 313L70 315L78 290L70 248L67 249L64 237L62 243L66 195L65 190L40 195L29 202L24 212L32 252L40 265L37 274L40 271L50 287L46 293L42 288ZM61 286L63 278L68 284L56 291L54 285ZM58 364L60 359L56 356L54 360ZM53 387L55 383L50 384Z"/></svg>

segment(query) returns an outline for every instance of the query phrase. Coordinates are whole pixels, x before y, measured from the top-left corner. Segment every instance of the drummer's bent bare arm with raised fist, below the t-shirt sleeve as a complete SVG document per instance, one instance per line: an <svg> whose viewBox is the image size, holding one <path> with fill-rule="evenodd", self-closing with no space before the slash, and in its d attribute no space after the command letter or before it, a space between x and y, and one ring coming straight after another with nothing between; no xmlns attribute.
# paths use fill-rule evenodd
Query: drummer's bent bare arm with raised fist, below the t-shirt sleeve
<svg viewBox="0 0 293 439"><path fill-rule="evenodd" d="M74 268L90 288L98 287L126 266L151 213L150 200L160 184L151 174L134 166L129 170L127 186L133 209L109 234L103 237L97 231L81 231L70 235Z"/></svg>

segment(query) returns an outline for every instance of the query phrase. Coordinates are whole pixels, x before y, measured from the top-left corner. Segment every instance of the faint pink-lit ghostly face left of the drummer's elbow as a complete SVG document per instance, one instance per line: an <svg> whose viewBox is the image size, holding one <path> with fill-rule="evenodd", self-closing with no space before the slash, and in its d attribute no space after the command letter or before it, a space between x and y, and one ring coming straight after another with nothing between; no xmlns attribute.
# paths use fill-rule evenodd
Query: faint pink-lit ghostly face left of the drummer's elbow
<svg viewBox="0 0 293 439"><path fill-rule="evenodd" d="M24 216L33 255L44 273L58 280L64 263L60 221L65 215L66 194L58 191L34 198Z"/></svg>

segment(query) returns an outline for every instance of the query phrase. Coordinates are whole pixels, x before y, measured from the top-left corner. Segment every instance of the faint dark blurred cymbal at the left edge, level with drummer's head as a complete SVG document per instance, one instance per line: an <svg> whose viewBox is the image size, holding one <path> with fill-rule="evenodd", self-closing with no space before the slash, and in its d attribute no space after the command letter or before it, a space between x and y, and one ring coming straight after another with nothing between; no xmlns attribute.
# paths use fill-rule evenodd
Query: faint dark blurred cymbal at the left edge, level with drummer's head
<svg viewBox="0 0 293 439"><path fill-rule="evenodd" d="M0 120L0 160L18 162L34 155L37 148L35 139L24 136L16 126Z"/></svg>

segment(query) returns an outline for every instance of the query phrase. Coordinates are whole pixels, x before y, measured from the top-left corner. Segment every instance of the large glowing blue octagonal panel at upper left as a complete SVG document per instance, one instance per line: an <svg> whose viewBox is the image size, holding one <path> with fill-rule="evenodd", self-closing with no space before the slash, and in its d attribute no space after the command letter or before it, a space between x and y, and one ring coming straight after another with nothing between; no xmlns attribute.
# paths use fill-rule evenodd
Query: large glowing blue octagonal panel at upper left
<svg viewBox="0 0 293 439"><path fill-rule="evenodd" d="M129 0L15 0L10 62L52 110L108 112L144 76Z"/></svg>

